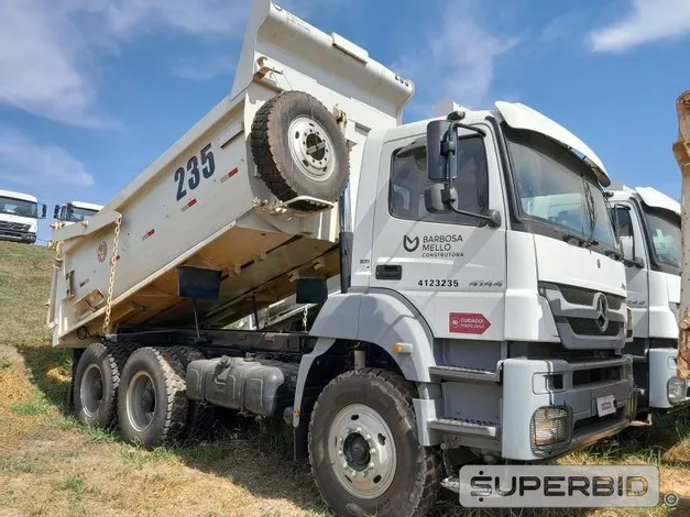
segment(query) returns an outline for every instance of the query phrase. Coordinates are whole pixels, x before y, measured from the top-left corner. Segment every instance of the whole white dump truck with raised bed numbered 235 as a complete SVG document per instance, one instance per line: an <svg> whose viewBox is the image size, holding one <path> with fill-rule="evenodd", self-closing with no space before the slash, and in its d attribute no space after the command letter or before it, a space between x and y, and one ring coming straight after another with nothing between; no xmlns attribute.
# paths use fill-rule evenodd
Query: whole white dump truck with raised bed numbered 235
<svg viewBox="0 0 690 517"><path fill-rule="evenodd" d="M380 516L628 426L604 165L521 103L402 124L413 91L256 0L230 96L54 231L78 418L146 447L209 405L283 418L328 505ZM228 328L295 293L322 306L308 332Z"/></svg>

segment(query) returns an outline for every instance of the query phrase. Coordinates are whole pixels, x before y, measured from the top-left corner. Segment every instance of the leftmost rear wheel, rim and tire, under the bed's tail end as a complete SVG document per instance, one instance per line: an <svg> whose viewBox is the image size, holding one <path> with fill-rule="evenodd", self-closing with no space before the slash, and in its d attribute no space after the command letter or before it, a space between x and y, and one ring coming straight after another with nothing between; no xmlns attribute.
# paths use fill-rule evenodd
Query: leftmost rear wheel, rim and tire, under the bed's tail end
<svg viewBox="0 0 690 517"><path fill-rule="evenodd" d="M110 427L118 408L120 377L129 349L89 345L77 365L74 378L74 411L90 426Z"/></svg>

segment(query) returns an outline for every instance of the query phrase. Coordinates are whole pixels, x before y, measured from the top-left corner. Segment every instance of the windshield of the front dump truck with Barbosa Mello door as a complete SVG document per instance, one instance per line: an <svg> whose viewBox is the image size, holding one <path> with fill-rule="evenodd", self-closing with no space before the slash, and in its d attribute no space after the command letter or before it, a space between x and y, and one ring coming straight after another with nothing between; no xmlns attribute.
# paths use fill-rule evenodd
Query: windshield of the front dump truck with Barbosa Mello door
<svg viewBox="0 0 690 517"><path fill-rule="evenodd" d="M519 211L552 229L615 249L592 169L552 140L505 128Z"/></svg>

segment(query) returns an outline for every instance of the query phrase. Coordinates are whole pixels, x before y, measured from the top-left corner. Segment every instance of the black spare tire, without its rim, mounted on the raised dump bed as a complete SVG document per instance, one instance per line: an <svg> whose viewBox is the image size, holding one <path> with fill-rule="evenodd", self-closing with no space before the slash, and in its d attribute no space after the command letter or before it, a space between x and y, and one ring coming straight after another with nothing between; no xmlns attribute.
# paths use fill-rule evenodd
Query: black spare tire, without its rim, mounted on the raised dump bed
<svg viewBox="0 0 690 517"><path fill-rule="evenodd" d="M304 174L291 154L289 139L294 135L287 133L292 121L300 116L318 122L333 143L336 168L322 182ZM344 135L328 109L308 94L286 91L265 102L252 122L251 147L259 175L282 201L289 201L297 196L337 201L348 184L350 162ZM308 201L298 201L292 207L303 211L318 208Z"/></svg>

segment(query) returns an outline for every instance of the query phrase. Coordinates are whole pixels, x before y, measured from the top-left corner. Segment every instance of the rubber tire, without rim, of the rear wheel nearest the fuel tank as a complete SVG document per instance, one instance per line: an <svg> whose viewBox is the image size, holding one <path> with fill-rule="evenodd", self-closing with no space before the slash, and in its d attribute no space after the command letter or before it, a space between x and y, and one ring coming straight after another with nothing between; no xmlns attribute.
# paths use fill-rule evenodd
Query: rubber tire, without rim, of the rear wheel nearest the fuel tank
<svg viewBox="0 0 690 517"><path fill-rule="evenodd" d="M151 424L138 430L130 421L127 397L132 377L141 371L152 381L155 406ZM153 449L183 436L187 427L189 402L183 363L172 348L146 346L136 350L124 365L120 385L122 392L118 399L118 420L120 432L127 441Z"/></svg>

